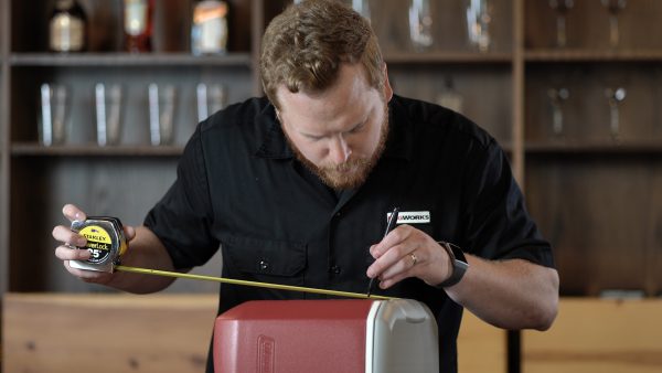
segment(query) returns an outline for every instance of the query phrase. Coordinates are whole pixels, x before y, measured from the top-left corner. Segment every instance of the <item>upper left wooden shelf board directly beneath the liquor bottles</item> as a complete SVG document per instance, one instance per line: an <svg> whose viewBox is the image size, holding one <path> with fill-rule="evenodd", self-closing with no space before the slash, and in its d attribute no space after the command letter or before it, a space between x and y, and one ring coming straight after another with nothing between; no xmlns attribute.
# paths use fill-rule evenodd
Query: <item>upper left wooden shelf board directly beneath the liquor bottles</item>
<svg viewBox="0 0 662 373"><path fill-rule="evenodd" d="M189 53L14 53L12 66L252 66L249 53L195 56Z"/></svg>

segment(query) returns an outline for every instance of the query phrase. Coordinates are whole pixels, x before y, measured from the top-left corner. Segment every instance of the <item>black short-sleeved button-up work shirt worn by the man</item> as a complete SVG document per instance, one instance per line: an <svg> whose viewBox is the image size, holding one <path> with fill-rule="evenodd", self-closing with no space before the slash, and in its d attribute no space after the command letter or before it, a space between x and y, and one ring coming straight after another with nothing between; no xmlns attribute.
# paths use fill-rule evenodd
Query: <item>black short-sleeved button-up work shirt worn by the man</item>
<svg viewBox="0 0 662 373"><path fill-rule="evenodd" d="M369 247L394 206L428 213L412 225L466 253L553 266L492 137L440 106L394 96L388 108L382 158L362 186L335 194L296 159L267 99L229 106L197 126L145 224L177 268L204 264L221 245L224 277L354 292L366 291ZM417 278L375 292L425 302L439 328L440 369L457 371L459 305ZM224 285L218 312L253 299L320 297Z"/></svg>

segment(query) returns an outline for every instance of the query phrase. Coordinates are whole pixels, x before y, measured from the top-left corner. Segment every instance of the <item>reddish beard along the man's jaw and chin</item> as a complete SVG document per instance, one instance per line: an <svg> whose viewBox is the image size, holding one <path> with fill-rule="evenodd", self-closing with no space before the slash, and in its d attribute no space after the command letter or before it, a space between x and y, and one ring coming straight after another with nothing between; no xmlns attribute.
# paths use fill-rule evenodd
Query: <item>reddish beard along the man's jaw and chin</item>
<svg viewBox="0 0 662 373"><path fill-rule="evenodd" d="M297 146L287 136L287 132L285 132L285 135L297 159L320 178L324 184L335 191L359 188L365 182L367 175L375 164L377 164L377 161L386 148L386 139L388 138L388 106L386 106L386 109L384 110L384 121L382 122L377 147L370 158L350 158L346 162L341 164L317 166L299 151Z"/></svg>

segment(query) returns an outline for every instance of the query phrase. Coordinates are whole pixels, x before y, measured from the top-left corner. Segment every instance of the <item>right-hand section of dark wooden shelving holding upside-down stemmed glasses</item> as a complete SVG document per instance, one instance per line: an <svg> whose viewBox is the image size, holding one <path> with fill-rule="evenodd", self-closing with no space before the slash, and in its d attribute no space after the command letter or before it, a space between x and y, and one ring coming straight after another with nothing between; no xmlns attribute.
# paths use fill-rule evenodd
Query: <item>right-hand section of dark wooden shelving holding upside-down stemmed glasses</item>
<svg viewBox="0 0 662 373"><path fill-rule="evenodd" d="M567 45L555 46L556 18L525 1L524 156L530 211L555 246L562 295L662 294L662 25L659 1L628 1L619 40L600 2L575 1ZM544 12L547 12L545 15ZM563 131L553 130L549 89ZM624 99L609 102L608 89ZM616 110L613 110L616 108ZM618 132L612 127L617 120Z"/></svg>

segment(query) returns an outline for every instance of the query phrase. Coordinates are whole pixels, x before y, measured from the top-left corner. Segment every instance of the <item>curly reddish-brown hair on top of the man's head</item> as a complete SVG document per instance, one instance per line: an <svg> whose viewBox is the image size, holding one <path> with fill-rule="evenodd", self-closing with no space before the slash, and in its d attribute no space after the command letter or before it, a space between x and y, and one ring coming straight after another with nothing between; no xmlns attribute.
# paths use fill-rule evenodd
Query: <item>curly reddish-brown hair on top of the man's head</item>
<svg viewBox="0 0 662 373"><path fill-rule="evenodd" d="M322 92L342 63L360 63L371 86L384 87L384 60L370 22L338 0L307 0L274 18L263 38L260 76L269 100L277 89Z"/></svg>

